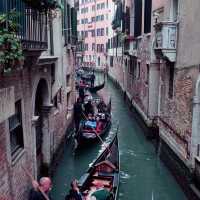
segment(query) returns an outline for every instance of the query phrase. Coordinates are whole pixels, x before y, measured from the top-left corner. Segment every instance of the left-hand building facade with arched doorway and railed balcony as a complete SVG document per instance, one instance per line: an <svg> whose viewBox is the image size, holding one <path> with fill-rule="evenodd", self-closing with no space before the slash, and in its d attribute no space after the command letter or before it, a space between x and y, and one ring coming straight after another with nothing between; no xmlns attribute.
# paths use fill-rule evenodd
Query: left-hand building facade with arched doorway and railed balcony
<svg viewBox="0 0 200 200"><path fill-rule="evenodd" d="M0 199L27 199L26 171L35 179L50 175L72 121L76 10L73 1L62 4L62 11L48 8L47 15L24 1L0 3L1 14L21 13L24 55L20 66L0 65Z"/></svg>

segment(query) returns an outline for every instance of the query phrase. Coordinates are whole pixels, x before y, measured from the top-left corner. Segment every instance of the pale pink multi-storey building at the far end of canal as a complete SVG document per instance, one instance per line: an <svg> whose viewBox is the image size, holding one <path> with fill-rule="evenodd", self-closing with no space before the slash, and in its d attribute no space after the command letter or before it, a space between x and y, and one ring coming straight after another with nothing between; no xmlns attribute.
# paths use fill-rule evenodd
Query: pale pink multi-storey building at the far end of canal
<svg viewBox="0 0 200 200"><path fill-rule="evenodd" d="M79 0L77 17L78 35L83 39L83 64L104 68L109 32L112 0Z"/></svg>

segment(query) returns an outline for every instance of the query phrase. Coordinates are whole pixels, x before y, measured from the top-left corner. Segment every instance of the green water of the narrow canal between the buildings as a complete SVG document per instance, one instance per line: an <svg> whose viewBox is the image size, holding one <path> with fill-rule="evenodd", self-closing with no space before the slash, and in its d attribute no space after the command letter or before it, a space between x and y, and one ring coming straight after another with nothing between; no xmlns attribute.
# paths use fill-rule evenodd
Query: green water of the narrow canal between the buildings
<svg viewBox="0 0 200 200"><path fill-rule="evenodd" d="M119 145L121 158L121 177L119 200L185 200L175 179L156 155L155 148L144 136L144 130L129 111L119 90L111 81L107 90L112 98L112 117L114 125L105 139L107 142L119 121ZM101 145L91 145L88 149L72 152L72 141L66 144L64 155L53 179L52 197L63 200L70 181L79 178L97 157Z"/></svg>

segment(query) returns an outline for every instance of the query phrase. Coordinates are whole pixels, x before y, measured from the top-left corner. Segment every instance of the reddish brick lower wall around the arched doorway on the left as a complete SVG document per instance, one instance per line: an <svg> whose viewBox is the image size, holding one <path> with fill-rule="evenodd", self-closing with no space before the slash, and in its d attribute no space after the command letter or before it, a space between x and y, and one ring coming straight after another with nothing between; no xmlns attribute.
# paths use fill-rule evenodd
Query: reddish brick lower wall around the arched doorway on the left
<svg viewBox="0 0 200 200"><path fill-rule="evenodd" d="M13 162L10 155L8 120L0 124L0 199L27 199L31 182L22 166L27 168L28 171L32 172L34 175L36 159L34 157L35 146L33 143L31 122L34 115L34 84L37 82L36 80L40 80L40 78L45 78L48 82L47 84L51 82L50 68L48 66L45 67L47 68L47 71L43 70L42 66L32 66L31 68L25 67L22 71L17 71L7 76L0 76L0 88L14 86L15 100L22 100L22 121L24 132L24 150ZM49 92L51 96L51 91ZM72 119L66 118L66 92L61 90L61 94L62 104L59 105L58 112L55 114L55 108L52 108L49 114L49 131L51 135L49 140L51 146L53 146L53 148L51 148L52 157L56 148L58 148L61 139L64 137L65 130Z"/></svg>

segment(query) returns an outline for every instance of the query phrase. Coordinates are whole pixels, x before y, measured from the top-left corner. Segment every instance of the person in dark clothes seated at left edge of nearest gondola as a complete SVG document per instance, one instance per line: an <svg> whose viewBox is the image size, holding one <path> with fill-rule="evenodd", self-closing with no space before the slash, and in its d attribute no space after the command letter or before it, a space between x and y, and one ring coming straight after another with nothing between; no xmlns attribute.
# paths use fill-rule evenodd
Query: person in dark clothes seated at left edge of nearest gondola
<svg viewBox="0 0 200 200"><path fill-rule="evenodd" d="M69 194L65 197L65 200L83 200L76 179L71 182L71 189L69 191Z"/></svg>

